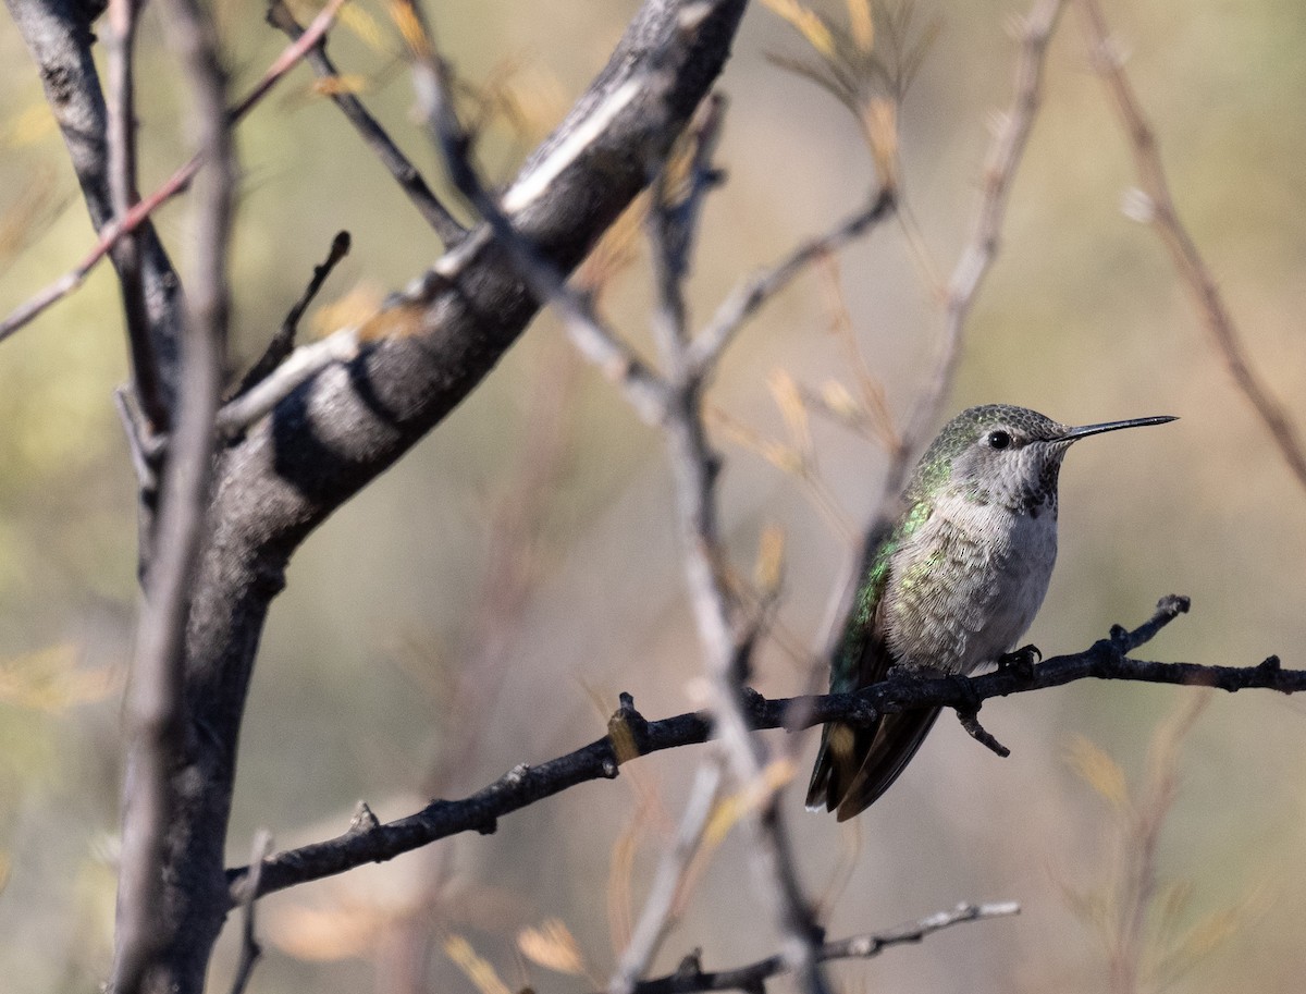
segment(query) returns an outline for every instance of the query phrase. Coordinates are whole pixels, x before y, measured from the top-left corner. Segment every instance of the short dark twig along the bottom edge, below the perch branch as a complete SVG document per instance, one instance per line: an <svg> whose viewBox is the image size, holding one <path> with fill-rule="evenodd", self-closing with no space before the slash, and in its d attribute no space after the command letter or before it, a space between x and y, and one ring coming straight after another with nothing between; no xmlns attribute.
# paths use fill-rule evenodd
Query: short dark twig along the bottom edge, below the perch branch
<svg viewBox="0 0 1306 994"><path fill-rule="evenodd" d="M949 912L936 912L925 918L900 925L896 929L871 933L868 935L854 935L838 942L827 942L818 947L816 959L819 963L849 959L866 960L879 956L893 946L921 942L927 935L953 925L987 918L1004 918L1019 913L1020 905L1013 901L1003 901L1000 904L959 904ZM747 991L747 994L763 994L768 980L789 972L782 956L769 956L747 967L705 973L699 954L695 951L692 955L684 957L674 973L641 981L635 985L632 994L693 994L693 991L700 990L742 990Z"/></svg>

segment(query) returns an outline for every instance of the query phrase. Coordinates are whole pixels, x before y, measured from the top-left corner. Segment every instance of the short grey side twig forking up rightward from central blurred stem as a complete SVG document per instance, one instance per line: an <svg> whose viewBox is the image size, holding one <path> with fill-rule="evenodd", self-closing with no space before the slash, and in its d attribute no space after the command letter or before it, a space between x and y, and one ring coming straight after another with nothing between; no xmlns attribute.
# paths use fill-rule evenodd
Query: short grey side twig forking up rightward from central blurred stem
<svg viewBox="0 0 1306 994"><path fill-rule="evenodd" d="M695 336L690 350L692 366L699 370L714 366L741 325L752 317L763 304L786 287L816 259L837 252L871 231L889 216L896 202L895 192L888 187L882 187L865 208L840 221L824 235L804 242L776 265L746 280L717 308L708 325Z"/></svg>

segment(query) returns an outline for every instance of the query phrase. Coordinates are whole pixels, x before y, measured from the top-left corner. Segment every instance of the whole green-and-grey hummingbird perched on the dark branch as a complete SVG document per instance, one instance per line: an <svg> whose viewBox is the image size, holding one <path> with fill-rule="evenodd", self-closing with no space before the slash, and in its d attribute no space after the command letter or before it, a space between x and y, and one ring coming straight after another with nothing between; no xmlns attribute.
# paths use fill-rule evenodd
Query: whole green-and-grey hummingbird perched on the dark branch
<svg viewBox="0 0 1306 994"><path fill-rule="evenodd" d="M1170 421L1072 428L1008 404L949 421L912 473L896 524L868 543L831 660L831 692L867 687L895 667L968 675L1010 658L1047 593L1057 482L1071 444ZM837 811L840 822L863 811L897 780L938 717L939 708L918 708L866 728L827 724L807 807Z"/></svg>

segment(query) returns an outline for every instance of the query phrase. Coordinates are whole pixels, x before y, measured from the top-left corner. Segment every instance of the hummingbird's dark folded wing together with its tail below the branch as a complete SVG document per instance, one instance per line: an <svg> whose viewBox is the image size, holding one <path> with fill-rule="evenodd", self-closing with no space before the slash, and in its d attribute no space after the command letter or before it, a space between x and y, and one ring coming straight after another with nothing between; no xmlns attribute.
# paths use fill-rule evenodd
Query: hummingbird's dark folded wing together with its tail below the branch
<svg viewBox="0 0 1306 994"><path fill-rule="evenodd" d="M923 508L917 508L922 511ZM905 528L919 526L927 512L909 515ZM844 694L878 683L897 662L884 639L880 618L889 560L902 529L878 543L868 558L862 588L831 665L831 691ZM938 708L885 714L866 728L831 721L821 731L820 752L807 788L807 807L838 811L846 822L889 789L921 747Z"/></svg>

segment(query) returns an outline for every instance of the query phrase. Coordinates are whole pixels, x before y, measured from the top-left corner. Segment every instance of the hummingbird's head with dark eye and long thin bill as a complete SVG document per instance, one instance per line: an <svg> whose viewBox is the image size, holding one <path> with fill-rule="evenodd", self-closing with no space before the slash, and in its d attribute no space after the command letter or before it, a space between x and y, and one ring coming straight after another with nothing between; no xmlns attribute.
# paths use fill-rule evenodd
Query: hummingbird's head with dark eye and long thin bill
<svg viewBox="0 0 1306 994"><path fill-rule="evenodd" d="M1169 421L1174 418L1131 418L1072 428L1010 404L969 408L943 427L921 457L908 492L913 500L951 492L1030 515L1043 509L1055 513L1060 464L1074 441Z"/></svg>

